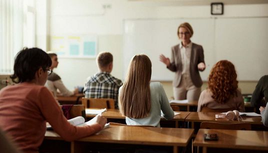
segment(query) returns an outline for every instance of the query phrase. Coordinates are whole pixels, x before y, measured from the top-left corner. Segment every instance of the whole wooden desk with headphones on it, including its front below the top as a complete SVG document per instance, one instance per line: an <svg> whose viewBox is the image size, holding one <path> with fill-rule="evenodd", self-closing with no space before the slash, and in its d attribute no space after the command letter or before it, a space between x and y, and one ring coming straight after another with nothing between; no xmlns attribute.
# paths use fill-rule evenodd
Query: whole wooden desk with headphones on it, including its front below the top
<svg viewBox="0 0 268 153"><path fill-rule="evenodd" d="M243 120L227 120L226 118L215 118L215 114L220 112L191 112L186 118L185 121L191 122L191 128L194 128L195 123L200 123L202 121L213 121L213 122L225 122L225 123L238 123L240 122L248 122L251 124L251 129L260 129L260 130L268 130L261 122L261 117L245 117L242 116ZM199 128L199 127L197 127Z"/></svg>

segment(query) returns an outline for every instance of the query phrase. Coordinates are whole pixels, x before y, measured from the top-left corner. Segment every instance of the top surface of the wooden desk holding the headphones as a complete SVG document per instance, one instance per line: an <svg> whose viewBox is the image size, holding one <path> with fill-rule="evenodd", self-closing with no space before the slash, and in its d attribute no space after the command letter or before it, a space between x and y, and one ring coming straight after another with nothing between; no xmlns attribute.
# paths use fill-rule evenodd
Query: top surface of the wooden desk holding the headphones
<svg viewBox="0 0 268 153"><path fill-rule="evenodd" d="M243 120L227 120L226 118L215 118L215 114L220 112L191 112L186 118L185 121L195 121L195 122L202 122L202 121L213 121L213 122L233 122L238 123L240 122L249 122L251 124L262 124L261 117L245 117L242 116Z"/></svg>

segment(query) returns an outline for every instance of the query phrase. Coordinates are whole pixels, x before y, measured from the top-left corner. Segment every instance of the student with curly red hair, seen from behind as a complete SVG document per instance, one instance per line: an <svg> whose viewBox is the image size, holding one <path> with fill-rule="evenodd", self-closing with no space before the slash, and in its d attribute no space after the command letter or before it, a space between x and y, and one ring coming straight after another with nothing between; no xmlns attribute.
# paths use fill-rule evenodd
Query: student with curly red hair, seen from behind
<svg viewBox="0 0 268 153"><path fill-rule="evenodd" d="M203 90L198 100L197 111L202 107L211 109L234 108L244 112L244 100L238 88L234 65L228 60L218 61L208 76L208 88Z"/></svg>

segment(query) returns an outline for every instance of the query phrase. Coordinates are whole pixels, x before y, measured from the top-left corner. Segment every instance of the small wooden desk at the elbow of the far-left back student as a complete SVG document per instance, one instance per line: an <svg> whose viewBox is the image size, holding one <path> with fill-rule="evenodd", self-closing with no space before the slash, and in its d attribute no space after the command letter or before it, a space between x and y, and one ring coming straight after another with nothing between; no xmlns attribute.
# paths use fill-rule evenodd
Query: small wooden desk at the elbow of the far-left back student
<svg viewBox="0 0 268 153"><path fill-rule="evenodd" d="M83 93L77 93L77 94L72 95L72 96L58 95L56 97L56 99L60 104L81 104L82 97L84 97Z"/></svg>

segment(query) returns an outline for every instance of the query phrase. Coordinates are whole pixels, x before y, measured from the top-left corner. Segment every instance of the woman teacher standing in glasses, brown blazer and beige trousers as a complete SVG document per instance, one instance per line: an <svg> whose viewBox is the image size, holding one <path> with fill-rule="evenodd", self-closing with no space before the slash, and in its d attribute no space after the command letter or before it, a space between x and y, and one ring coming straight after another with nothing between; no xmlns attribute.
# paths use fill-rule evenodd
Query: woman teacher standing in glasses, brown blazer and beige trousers
<svg viewBox="0 0 268 153"><path fill-rule="evenodd" d="M205 69L203 47L191 42L193 34L189 23L178 26L177 35L181 42L171 48L171 59L163 54L160 61L175 72L173 79L173 95L177 100L198 100L202 80L199 71Z"/></svg>

